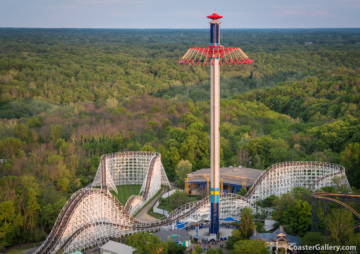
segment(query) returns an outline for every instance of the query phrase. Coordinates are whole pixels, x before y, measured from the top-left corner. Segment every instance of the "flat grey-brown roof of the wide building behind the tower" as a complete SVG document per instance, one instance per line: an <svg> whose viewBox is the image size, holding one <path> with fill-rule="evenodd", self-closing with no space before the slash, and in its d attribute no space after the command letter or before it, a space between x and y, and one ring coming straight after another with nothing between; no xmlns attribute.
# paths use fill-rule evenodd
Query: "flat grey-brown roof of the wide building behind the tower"
<svg viewBox="0 0 360 254"><path fill-rule="evenodd" d="M241 181L241 182L255 182L259 175L263 172L260 169L251 168L220 168L220 178L225 178ZM194 178L210 178L210 169L200 169L198 171L188 174L189 182L194 182ZM230 182L229 182L230 183Z"/></svg>

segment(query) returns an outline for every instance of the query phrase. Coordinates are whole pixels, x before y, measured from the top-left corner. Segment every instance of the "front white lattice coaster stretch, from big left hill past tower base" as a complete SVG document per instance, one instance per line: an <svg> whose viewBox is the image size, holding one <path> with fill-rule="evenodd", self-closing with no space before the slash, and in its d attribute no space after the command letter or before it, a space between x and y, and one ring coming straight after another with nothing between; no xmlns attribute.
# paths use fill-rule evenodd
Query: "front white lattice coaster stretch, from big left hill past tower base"
<svg viewBox="0 0 360 254"><path fill-rule="evenodd" d="M233 193L220 196L221 218L235 216L245 206L264 212L242 196ZM210 197L206 197L177 208L163 220L143 222L132 217L108 190L83 188L68 200L48 239L35 253L54 254L59 248L64 253L73 253L90 246L100 246L111 237L152 232L162 226L201 220L209 215Z"/></svg>

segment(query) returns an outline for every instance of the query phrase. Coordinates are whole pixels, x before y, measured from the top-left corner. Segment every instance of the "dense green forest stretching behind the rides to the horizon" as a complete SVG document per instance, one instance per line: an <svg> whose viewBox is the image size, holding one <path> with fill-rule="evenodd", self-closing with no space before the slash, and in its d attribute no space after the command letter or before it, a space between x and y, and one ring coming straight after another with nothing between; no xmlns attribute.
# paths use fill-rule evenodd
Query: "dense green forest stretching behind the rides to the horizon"
<svg viewBox="0 0 360 254"><path fill-rule="evenodd" d="M206 29L0 28L0 247L44 239L105 153L160 152L171 181L181 159L209 167L210 67L176 64L207 43ZM221 166L332 162L360 188L360 29L221 43L254 60L221 67Z"/></svg>

